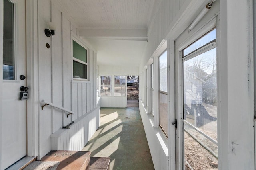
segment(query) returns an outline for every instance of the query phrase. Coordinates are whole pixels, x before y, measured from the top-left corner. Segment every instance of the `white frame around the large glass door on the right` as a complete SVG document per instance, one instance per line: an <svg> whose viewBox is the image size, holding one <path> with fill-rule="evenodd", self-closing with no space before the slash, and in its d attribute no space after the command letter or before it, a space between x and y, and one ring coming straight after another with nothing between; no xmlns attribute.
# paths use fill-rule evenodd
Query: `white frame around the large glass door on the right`
<svg viewBox="0 0 256 170"><path fill-rule="evenodd" d="M218 4L217 4L218 3ZM183 61L181 51L188 45L192 44L196 39L200 38L204 33L208 32L212 27L217 27L217 41L219 39L219 1L216 5L202 18L202 20L192 30L188 28L174 41L174 53L175 53L175 119L177 119L177 128L175 130L176 141L176 170L184 169L184 134L182 132L182 123L180 119L183 117ZM218 87L218 42L217 42L217 87ZM218 89L218 88L217 88ZM219 92L217 91L219 96ZM219 100L219 99L217 99ZM217 116L219 111L217 110ZM217 133L220 134L220 121L217 122ZM218 138L219 139L219 138ZM219 146L219 141L218 141ZM218 148L218 150L220 150ZM220 152L219 152L220 154Z"/></svg>

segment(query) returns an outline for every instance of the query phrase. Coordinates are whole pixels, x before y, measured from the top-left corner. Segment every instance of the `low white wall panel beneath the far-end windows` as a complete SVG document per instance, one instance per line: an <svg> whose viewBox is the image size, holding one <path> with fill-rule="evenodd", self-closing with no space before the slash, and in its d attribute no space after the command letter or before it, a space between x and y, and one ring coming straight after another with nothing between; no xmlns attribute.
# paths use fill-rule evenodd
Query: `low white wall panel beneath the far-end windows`
<svg viewBox="0 0 256 170"><path fill-rule="evenodd" d="M125 108L127 107L127 96L101 96L101 107L117 107L117 108Z"/></svg>

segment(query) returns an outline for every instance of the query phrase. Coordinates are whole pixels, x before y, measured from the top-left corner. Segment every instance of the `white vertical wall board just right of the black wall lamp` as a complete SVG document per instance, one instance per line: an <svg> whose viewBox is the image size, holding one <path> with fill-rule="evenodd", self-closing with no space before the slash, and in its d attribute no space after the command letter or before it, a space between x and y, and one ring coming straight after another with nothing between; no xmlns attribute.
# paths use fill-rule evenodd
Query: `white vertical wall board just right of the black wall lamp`
<svg viewBox="0 0 256 170"><path fill-rule="evenodd" d="M52 39L52 102L62 107L62 20L61 12L52 6L52 22L56 24L56 35ZM54 109L54 108L53 108ZM53 132L62 127L62 111L54 109Z"/></svg>

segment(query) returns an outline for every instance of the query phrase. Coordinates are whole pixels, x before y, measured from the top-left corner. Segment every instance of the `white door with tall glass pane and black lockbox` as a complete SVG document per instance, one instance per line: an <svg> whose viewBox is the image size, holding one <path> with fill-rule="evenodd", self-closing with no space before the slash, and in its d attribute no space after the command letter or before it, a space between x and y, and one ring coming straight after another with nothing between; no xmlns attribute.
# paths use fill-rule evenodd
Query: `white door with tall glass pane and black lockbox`
<svg viewBox="0 0 256 170"><path fill-rule="evenodd" d="M20 78L20 75L26 76L25 0L4 0L3 8L0 169L11 166L27 154L26 100L19 99L20 87L26 86L26 79Z"/></svg>

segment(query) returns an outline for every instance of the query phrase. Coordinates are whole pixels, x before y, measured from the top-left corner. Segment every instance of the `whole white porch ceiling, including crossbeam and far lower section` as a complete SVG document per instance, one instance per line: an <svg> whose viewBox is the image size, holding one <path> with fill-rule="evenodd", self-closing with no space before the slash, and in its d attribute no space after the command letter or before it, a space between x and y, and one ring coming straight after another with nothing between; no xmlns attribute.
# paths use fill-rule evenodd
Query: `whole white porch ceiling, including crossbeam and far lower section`
<svg viewBox="0 0 256 170"><path fill-rule="evenodd" d="M81 38L97 50L98 64L139 66L155 0L52 0Z"/></svg>

